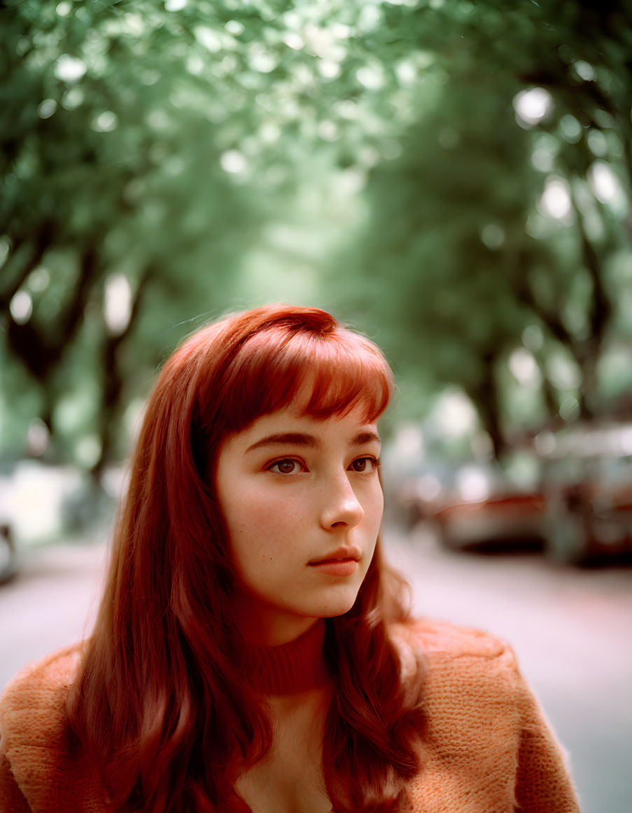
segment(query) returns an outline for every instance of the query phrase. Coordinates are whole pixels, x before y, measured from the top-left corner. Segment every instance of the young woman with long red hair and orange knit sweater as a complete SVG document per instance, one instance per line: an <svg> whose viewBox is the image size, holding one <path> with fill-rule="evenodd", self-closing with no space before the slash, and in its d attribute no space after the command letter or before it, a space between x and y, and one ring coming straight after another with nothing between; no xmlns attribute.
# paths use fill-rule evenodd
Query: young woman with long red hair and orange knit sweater
<svg viewBox="0 0 632 813"><path fill-rule="evenodd" d="M392 375L316 308L204 328L149 398L92 636L0 702L2 813L570 813L511 650L383 562Z"/></svg>

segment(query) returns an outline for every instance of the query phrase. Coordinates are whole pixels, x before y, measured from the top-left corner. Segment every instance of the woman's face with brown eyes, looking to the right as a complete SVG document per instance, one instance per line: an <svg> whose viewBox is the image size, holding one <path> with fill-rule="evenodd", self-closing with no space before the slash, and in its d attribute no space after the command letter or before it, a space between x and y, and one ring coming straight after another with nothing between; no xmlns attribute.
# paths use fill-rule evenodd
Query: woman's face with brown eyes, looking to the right
<svg viewBox="0 0 632 813"><path fill-rule="evenodd" d="M357 411L316 420L292 407L224 441L215 488L249 641L291 641L351 609L382 520L379 446Z"/></svg>

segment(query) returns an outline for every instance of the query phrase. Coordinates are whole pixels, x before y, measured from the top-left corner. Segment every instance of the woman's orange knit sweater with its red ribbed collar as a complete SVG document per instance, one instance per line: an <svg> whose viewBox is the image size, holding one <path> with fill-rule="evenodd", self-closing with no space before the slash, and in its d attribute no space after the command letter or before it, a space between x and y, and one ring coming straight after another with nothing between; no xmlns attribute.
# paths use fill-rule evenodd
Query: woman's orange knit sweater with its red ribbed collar
<svg viewBox="0 0 632 813"><path fill-rule="evenodd" d="M426 662L413 813L579 813L565 757L504 641L430 621L400 628L396 640L405 670L416 663L413 650ZM308 633L296 649L253 653L255 674L277 691L301 689L308 678L297 663L309 662L314 646L322 646L320 633ZM79 658L76 646L59 650L6 686L0 813L114 813L94 766L69 759L63 746L64 703Z"/></svg>

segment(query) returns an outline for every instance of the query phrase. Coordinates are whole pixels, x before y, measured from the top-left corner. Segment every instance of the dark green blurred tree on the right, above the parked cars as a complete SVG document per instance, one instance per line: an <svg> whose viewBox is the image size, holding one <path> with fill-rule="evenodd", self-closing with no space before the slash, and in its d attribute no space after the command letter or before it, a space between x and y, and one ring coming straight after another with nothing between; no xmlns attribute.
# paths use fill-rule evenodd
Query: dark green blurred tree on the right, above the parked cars
<svg viewBox="0 0 632 813"><path fill-rule="evenodd" d="M540 368L534 424L569 393L582 415L597 410L604 346L621 341L630 18L619 3L478 2L465 20L462 8L449 7L431 44L444 91L367 187L364 307L388 307L406 367L416 355L437 384L461 385L500 453L512 353L514 366ZM421 15L392 16L431 37ZM576 385L552 374L559 354Z"/></svg>

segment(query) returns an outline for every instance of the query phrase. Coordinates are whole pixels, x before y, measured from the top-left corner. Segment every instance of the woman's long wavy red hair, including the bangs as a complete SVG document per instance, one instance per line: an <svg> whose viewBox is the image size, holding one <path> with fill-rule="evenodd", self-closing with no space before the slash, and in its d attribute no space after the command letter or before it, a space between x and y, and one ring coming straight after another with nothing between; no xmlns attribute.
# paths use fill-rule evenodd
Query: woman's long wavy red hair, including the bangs
<svg viewBox="0 0 632 813"><path fill-rule="evenodd" d="M271 724L233 657L236 576L213 473L223 439L288 406L306 380L305 414L317 418L359 408L372 423L392 393L371 341L317 308L273 305L194 333L149 398L67 698L72 747L116 809L250 811L236 780L270 749ZM337 813L403 809L418 770L422 672L404 678L392 636L409 619L406 586L378 541L353 608L327 622L323 771Z"/></svg>

